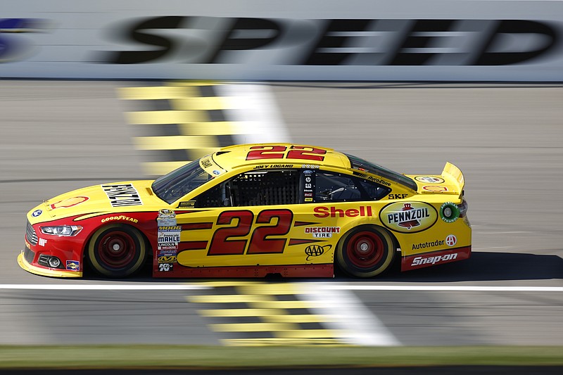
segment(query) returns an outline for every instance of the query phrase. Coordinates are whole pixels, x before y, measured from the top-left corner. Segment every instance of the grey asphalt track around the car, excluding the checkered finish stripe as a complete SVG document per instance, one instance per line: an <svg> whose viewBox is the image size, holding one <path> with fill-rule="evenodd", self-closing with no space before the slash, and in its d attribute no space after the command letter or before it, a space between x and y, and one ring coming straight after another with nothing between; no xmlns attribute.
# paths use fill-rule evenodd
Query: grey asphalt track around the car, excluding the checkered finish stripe
<svg viewBox="0 0 563 375"><path fill-rule="evenodd" d="M25 212L43 199L144 178L120 86L0 82L0 344L221 342L189 302L208 293L198 289L206 280L158 281L194 286L180 291L106 290L156 282L51 279L15 261ZM439 174L450 161L466 177L471 260L405 274L395 265L379 279L339 275L308 288L335 286L360 300L364 319L376 319L394 345L563 345L560 85L267 86L296 143L408 174ZM26 284L62 289L5 288Z"/></svg>

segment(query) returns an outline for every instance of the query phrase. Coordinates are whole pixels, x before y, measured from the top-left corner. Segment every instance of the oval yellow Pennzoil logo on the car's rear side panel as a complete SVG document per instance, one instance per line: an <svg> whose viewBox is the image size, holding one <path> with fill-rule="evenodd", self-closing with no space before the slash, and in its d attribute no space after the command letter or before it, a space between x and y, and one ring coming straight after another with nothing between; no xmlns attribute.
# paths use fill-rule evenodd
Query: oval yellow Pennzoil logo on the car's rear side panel
<svg viewBox="0 0 563 375"><path fill-rule="evenodd" d="M424 202L397 202L379 212L379 220L392 231L417 233L429 229L436 220L436 208Z"/></svg>

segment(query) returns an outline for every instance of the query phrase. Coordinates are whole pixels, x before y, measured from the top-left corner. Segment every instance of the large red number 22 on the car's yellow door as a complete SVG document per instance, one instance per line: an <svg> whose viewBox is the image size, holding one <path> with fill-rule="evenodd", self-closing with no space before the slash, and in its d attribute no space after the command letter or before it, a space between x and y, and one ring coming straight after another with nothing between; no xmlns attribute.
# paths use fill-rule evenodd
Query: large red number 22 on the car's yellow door
<svg viewBox="0 0 563 375"><path fill-rule="evenodd" d="M236 224L232 223L236 220ZM252 232L250 243L246 239L233 239L248 236L254 221L254 214L248 210L225 211L217 217L221 227L213 234L207 255L243 255L246 254L281 254L287 239L271 239L270 236L284 236L289 233L293 223L290 210L263 210L258 213L255 224L274 225L257 226ZM228 227L223 227L227 225ZM248 246L247 246L248 245Z"/></svg>

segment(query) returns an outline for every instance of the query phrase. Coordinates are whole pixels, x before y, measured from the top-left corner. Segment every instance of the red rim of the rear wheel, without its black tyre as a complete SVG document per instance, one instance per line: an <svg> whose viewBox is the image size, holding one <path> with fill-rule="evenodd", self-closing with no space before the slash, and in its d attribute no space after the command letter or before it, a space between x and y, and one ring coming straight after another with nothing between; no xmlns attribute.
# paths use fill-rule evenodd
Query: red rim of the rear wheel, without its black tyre
<svg viewBox="0 0 563 375"><path fill-rule="evenodd" d="M354 234L348 240L346 255L353 265L369 268L377 265L383 258L385 245L381 237L371 231Z"/></svg>

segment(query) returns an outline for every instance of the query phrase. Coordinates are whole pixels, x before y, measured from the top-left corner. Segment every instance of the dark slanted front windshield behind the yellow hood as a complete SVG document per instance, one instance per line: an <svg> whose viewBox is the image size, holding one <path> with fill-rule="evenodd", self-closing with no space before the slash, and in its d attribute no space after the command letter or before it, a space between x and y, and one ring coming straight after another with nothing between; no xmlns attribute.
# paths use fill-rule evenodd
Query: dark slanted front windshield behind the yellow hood
<svg viewBox="0 0 563 375"><path fill-rule="evenodd" d="M171 204L210 179L213 176L199 166L199 160L194 160L159 177L151 187L158 198Z"/></svg>

